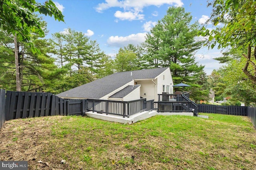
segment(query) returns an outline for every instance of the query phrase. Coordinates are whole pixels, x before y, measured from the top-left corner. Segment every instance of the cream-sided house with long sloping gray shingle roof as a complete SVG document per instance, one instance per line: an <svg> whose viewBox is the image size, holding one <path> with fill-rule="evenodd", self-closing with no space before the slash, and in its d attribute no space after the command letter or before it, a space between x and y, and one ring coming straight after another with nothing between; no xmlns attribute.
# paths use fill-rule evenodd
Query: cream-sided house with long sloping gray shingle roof
<svg viewBox="0 0 256 170"><path fill-rule="evenodd" d="M117 72L70 89L56 96L66 99L102 99L132 101L140 98L158 100L158 94L173 94L169 67Z"/></svg>

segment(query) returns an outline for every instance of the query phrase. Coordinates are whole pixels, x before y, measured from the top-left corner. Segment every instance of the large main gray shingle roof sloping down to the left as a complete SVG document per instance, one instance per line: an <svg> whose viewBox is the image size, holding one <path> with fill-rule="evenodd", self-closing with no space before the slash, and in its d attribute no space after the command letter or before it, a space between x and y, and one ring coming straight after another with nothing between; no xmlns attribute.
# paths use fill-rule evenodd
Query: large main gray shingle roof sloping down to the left
<svg viewBox="0 0 256 170"><path fill-rule="evenodd" d="M57 94L56 96L62 98L94 98L99 99L103 96L113 92L114 90L124 86L132 79L146 79L156 78L159 74L164 72L166 68L153 68L145 70L134 70L127 72L117 72L109 76L94 80L90 83L72 88L66 92ZM132 76L131 76L132 72Z"/></svg>

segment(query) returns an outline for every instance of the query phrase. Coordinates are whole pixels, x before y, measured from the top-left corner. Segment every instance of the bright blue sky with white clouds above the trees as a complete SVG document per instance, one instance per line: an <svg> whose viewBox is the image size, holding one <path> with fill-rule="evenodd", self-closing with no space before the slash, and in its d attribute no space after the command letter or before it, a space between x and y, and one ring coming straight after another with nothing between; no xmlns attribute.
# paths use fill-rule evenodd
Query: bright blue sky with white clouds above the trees
<svg viewBox="0 0 256 170"><path fill-rule="evenodd" d="M49 30L46 38L71 28L96 40L100 49L112 58L120 47L142 43L146 33L166 15L170 6L183 6L193 16L193 23L204 23L211 14L206 0L57 0L54 3L65 16L65 23L44 17ZM208 25L208 29L212 27ZM208 47L195 54L196 61L205 66L208 75L221 66L212 59L220 56L220 50L208 50Z"/></svg>

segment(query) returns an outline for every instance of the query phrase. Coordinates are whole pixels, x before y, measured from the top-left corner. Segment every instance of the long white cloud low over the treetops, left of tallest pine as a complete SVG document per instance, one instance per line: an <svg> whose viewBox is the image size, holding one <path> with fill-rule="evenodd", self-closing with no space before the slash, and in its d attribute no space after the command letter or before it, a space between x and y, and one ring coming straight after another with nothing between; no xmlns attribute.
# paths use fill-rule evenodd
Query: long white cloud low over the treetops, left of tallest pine
<svg viewBox="0 0 256 170"><path fill-rule="evenodd" d="M108 38L108 45L111 47L125 47L128 44L139 45L145 41L146 33L131 34L126 37L111 36Z"/></svg>

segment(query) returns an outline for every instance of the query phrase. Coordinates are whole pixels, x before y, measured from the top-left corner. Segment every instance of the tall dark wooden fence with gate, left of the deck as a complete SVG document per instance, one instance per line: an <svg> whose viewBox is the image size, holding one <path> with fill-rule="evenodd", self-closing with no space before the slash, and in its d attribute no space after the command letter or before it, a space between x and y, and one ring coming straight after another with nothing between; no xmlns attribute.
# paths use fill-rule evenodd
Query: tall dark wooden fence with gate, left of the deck
<svg viewBox="0 0 256 170"><path fill-rule="evenodd" d="M65 100L51 93L6 92L6 120L50 115L82 115L85 100ZM85 111L84 111L85 112Z"/></svg>

